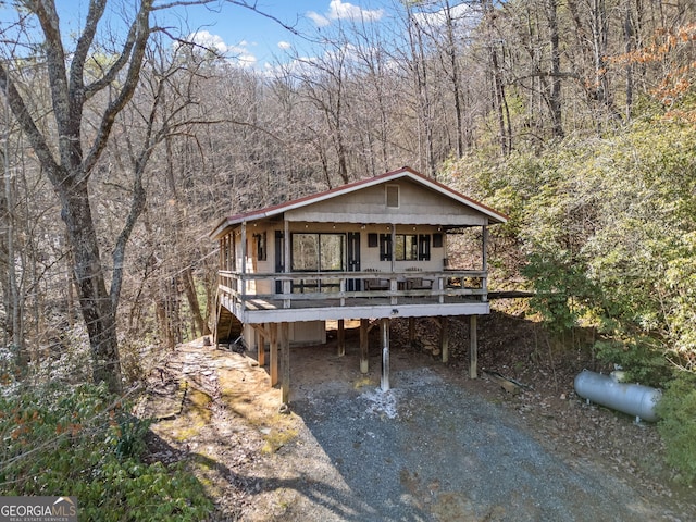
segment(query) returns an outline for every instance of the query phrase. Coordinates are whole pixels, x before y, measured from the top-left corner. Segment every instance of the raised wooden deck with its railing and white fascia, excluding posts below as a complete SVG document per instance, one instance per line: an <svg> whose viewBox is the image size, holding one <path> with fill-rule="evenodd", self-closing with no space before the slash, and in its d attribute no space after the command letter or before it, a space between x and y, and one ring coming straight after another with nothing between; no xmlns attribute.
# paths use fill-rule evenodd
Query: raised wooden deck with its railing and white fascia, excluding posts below
<svg viewBox="0 0 696 522"><path fill-rule="evenodd" d="M220 302L243 323L296 322L339 319L417 318L478 315L489 312L485 273L481 271L419 272L419 282L428 287L413 288L413 273L222 273ZM272 279L287 290L281 294L251 294L260 281ZM364 290L365 281L386 282L386 289ZM298 291L300 284L324 291ZM279 283L278 283L279 282ZM331 285L330 283L331 282ZM360 288L346 290L346 288ZM294 291L293 291L294 290Z"/></svg>

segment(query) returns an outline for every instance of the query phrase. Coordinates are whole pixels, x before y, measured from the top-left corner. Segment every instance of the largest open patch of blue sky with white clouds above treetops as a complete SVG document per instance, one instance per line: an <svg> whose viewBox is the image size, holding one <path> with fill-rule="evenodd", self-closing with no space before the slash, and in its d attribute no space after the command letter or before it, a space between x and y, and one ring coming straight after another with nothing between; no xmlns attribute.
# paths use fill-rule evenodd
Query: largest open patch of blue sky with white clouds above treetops
<svg viewBox="0 0 696 522"><path fill-rule="evenodd" d="M318 28L328 29L341 21L380 23L386 17L378 2L361 0L259 0L256 3L259 11L306 35L315 34ZM224 2L178 10L176 17L169 20L196 32L195 40L216 47L231 60L256 69L282 61L293 48L302 53L311 47L277 22Z"/></svg>

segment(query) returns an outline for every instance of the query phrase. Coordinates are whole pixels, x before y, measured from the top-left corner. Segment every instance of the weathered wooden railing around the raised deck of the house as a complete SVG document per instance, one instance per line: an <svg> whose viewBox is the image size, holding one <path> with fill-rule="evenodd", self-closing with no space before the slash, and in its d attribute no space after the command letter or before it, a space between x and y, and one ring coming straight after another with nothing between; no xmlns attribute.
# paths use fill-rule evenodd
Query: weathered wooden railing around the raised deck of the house
<svg viewBox="0 0 696 522"><path fill-rule="evenodd" d="M250 301L277 302L278 308L349 307L364 300L383 299L389 304L413 298L445 302L449 298L487 301L487 272L448 269L440 272L291 272L240 273L220 271L220 293L237 307ZM277 291L258 291L271 288ZM334 302L335 301L335 302ZM364 302L364 301L363 301Z"/></svg>

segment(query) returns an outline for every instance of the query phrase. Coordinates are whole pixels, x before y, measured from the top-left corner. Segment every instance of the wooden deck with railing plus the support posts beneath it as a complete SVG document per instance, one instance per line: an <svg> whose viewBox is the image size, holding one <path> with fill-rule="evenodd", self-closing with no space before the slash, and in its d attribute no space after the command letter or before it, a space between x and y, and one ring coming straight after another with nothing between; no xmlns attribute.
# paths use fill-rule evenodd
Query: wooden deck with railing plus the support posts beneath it
<svg viewBox="0 0 696 522"><path fill-rule="evenodd" d="M220 304L241 323L253 327L257 346L269 346L269 372L271 384L281 384L282 399L289 402L290 343L289 324L311 321L338 321L339 353L345 350L344 323L360 321L360 370L368 373L368 332L381 328L382 372L381 387L389 388L389 321L408 318L439 318L442 326L440 351L443 362L448 361L448 318L470 316L470 376L477 375L476 318L490 311L487 302L486 273L483 271L446 271L422 273L431 276L428 288L415 288L403 284L410 273L378 274L386 279L384 289L346 290L348 279L362 279L356 288L371 288L365 279L372 273L331 274L243 274L221 272ZM274 278L283 284L285 293L258 294L254 282ZM297 288L298 279L326 281L338 278L330 291L290 291ZM452 284L452 282L455 284ZM468 282L470 286L463 285ZM320 285L321 286L321 285ZM278 289L281 289L278 287ZM412 330L412 328L410 328ZM217 341L219 339L216 339ZM264 350L258 350L259 364L264 365ZM278 375L278 370L281 374Z"/></svg>

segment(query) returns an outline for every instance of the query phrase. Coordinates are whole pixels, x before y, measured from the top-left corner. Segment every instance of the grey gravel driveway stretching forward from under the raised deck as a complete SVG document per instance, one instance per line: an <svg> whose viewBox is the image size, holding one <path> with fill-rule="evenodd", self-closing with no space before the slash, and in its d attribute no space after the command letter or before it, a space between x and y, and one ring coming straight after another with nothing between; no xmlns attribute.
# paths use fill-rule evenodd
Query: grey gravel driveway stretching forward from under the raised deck
<svg viewBox="0 0 696 522"><path fill-rule="evenodd" d="M300 434L275 456L285 478L266 484L288 493L283 520L682 520L607 470L544 447L440 363L393 359L383 393L378 359L370 382L355 370L346 378L349 357L321 359L296 368Z"/></svg>

